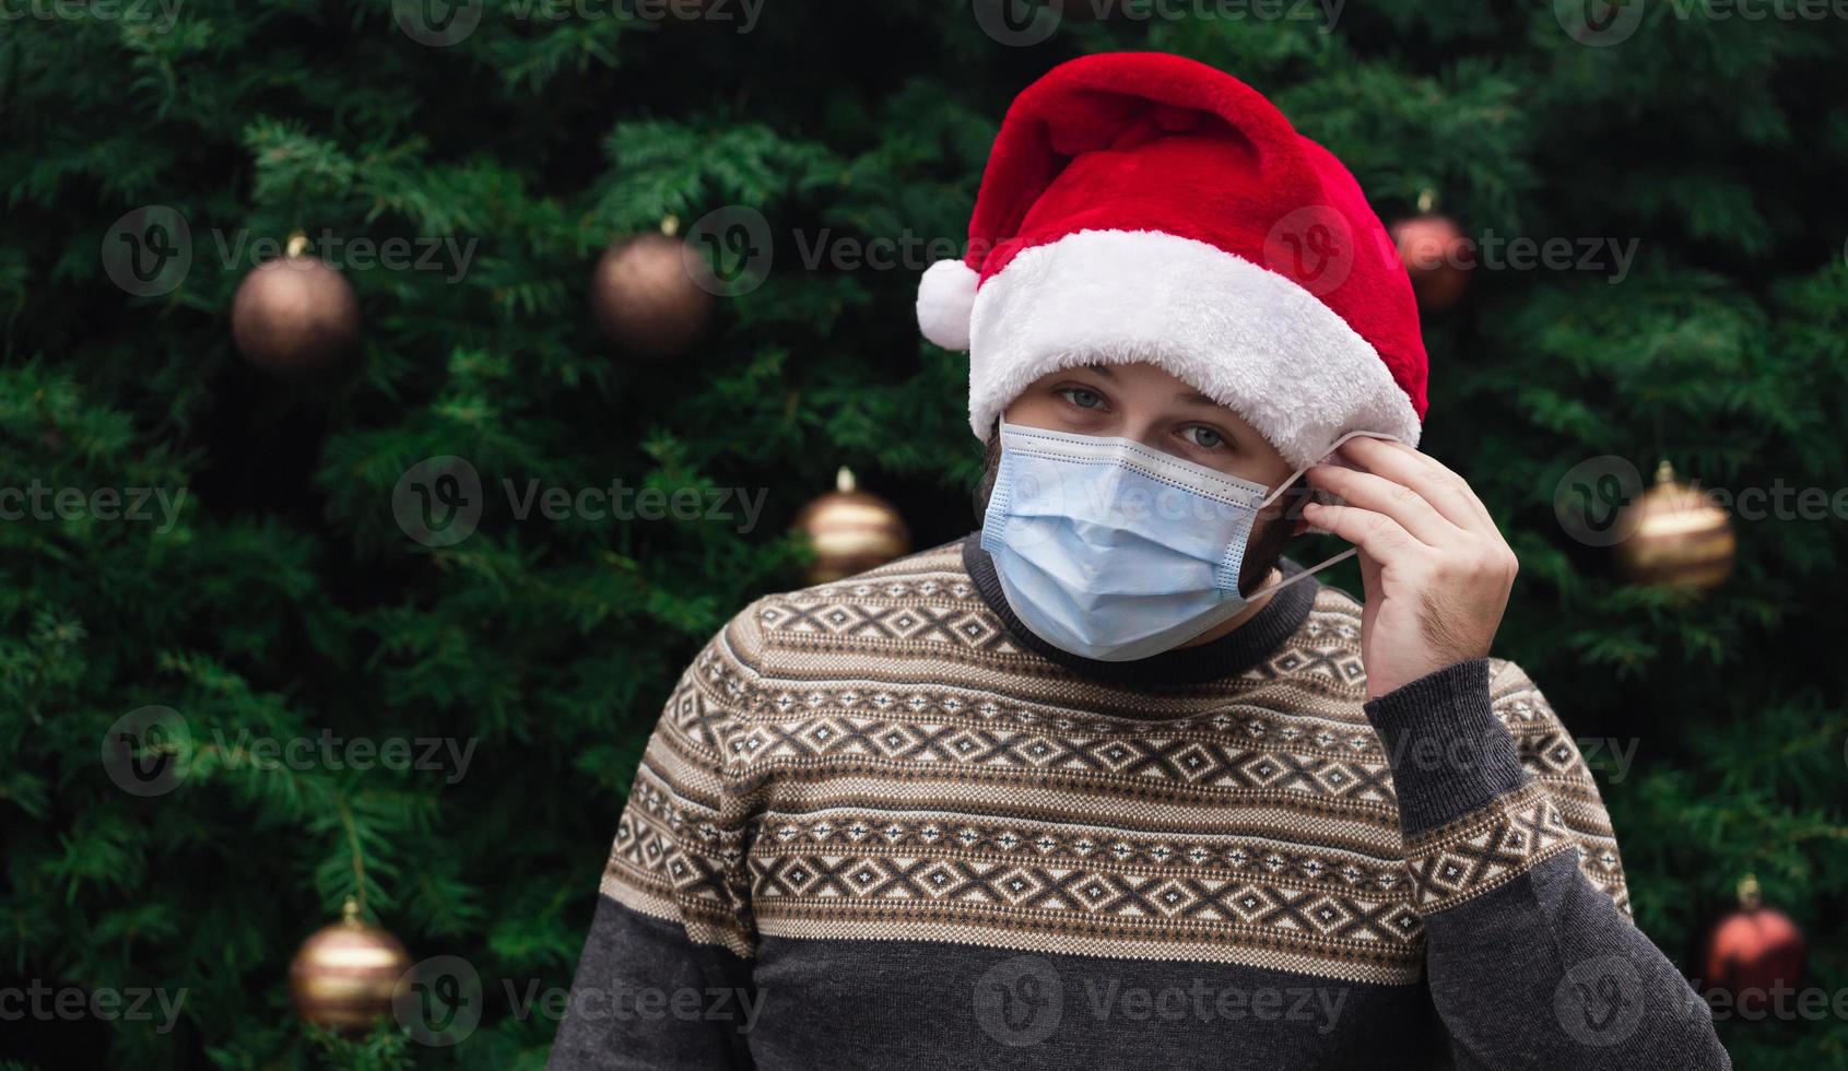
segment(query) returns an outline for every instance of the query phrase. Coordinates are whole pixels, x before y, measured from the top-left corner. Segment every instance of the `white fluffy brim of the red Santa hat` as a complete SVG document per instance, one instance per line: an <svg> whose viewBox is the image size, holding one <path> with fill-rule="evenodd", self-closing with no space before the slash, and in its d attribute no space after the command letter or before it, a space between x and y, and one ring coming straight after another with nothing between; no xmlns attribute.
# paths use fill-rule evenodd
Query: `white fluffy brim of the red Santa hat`
<svg viewBox="0 0 1848 1071"><path fill-rule="evenodd" d="M920 294L920 319L922 308ZM1077 231L1024 249L981 284L968 342L968 427L983 441L1048 371L1140 360L1236 412L1292 465L1316 463L1351 430L1417 445L1412 401L1345 319L1194 238Z"/></svg>

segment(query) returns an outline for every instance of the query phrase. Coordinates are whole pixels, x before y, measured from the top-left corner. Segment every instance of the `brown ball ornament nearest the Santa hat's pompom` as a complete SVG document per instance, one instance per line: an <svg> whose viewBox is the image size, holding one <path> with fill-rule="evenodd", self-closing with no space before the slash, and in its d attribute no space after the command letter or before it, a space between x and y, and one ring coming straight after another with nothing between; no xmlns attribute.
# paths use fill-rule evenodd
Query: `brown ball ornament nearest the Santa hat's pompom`
<svg viewBox="0 0 1848 1071"><path fill-rule="evenodd" d="M597 327L638 356L673 356L706 332L717 283L699 251L675 236L669 216L658 235L636 235L610 246L590 283Z"/></svg>

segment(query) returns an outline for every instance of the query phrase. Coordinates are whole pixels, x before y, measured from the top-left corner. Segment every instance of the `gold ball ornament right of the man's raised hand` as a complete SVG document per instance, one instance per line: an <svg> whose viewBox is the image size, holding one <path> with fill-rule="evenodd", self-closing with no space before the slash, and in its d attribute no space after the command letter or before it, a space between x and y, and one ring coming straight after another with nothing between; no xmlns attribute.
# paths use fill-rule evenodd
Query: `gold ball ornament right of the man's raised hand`
<svg viewBox="0 0 1848 1071"><path fill-rule="evenodd" d="M1732 572L1732 521L1698 487L1676 480L1667 460L1623 523L1630 537L1617 545L1617 567L1634 584L1708 591Z"/></svg>

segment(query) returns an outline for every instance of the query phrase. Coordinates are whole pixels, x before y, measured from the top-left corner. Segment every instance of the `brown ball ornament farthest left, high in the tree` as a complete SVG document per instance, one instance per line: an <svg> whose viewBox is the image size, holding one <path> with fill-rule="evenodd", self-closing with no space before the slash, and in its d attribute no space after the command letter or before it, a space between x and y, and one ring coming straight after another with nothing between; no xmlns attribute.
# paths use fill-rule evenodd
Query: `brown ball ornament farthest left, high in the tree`
<svg viewBox="0 0 1848 1071"><path fill-rule="evenodd" d="M231 299L237 351L283 380L325 377L359 338L353 286L307 247L307 235L290 235L286 251L251 270Z"/></svg>

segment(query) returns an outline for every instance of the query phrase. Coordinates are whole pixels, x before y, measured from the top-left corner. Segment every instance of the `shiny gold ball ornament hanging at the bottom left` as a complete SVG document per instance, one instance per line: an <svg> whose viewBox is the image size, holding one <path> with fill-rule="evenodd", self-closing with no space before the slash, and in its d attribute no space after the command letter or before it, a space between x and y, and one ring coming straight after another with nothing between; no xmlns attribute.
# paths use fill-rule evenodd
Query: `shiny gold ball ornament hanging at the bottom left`
<svg viewBox="0 0 1848 1071"><path fill-rule="evenodd" d="M288 966L288 993L303 1019L331 1030L370 1030L392 1014L410 957L390 933L366 925L349 896L342 920L301 942Z"/></svg>

